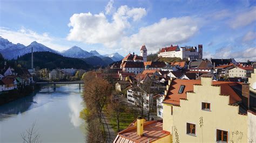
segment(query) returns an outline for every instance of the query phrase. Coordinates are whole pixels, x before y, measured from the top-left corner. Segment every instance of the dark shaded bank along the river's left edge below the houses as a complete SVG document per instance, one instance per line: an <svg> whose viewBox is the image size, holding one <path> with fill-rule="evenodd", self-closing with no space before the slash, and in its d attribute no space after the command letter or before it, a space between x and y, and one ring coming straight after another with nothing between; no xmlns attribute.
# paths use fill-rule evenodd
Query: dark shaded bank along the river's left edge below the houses
<svg viewBox="0 0 256 143"><path fill-rule="evenodd" d="M28 96L32 94L33 91L38 90L36 85L27 85L22 90L13 89L8 91L3 91L0 93L0 105L15 101L18 98Z"/></svg>

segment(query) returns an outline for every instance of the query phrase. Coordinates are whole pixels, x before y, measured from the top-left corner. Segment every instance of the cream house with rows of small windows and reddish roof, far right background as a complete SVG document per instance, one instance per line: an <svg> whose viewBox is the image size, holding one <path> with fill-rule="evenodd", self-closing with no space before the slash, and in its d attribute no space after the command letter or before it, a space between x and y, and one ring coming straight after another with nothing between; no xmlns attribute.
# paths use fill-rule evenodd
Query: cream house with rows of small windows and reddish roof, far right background
<svg viewBox="0 0 256 143"><path fill-rule="evenodd" d="M253 71L252 66L235 66L228 69L228 76L230 77L250 77Z"/></svg>

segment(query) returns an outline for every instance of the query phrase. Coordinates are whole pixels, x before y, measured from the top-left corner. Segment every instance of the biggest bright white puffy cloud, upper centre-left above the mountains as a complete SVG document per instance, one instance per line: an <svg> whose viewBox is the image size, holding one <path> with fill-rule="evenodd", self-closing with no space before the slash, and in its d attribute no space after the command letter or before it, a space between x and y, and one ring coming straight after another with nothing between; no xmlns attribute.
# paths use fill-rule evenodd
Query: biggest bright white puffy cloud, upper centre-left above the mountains
<svg viewBox="0 0 256 143"><path fill-rule="evenodd" d="M103 12L95 15L90 12L75 13L70 18L71 30L67 39L114 47L117 41L125 35L125 30L131 26L130 20L137 21L145 15L144 8L129 8L127 5L120 6L113 13L112 22L109 22Z"/></svg>

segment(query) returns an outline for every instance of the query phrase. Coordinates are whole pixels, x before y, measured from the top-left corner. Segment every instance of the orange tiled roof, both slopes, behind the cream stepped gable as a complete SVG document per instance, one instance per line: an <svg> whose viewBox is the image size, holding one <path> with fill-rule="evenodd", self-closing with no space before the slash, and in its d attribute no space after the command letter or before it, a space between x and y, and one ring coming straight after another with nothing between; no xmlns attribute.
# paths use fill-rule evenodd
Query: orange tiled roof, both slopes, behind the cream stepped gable
<svg viewBox="0 0 256 143"><path fill-rule="evenodd" d="M194 84L201 84L200 80L172 80L171 86L167 92L167 96L164 99L164 103L178 105L180 103L180 99L187 99L186 92L193 92ZM220 94L221 95L229 95L230 96L230 104L241 101L239 95L231 88L232 85L237 85L240 83L237 82L223 82L223 81L213 81L212 85L220 86ZM185 85L185 88L181 94L178 94L180 85Z"/></svg>

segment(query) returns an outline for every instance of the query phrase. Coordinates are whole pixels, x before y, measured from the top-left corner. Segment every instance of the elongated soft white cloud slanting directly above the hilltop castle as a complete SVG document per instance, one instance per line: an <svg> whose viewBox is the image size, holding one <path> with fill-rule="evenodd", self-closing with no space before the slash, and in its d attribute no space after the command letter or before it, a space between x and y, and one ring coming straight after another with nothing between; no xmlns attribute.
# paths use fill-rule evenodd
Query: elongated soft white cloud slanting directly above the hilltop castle
<svg viewBox="0 0 256 143"><path fill-rule="evenodd" d="M166 45L182 44L199 30L197 21L191 17L162 18L158 23L142 27L138 33L124 37L121 45L130 50L145 44L149 52L156 52Z"/></svg>

